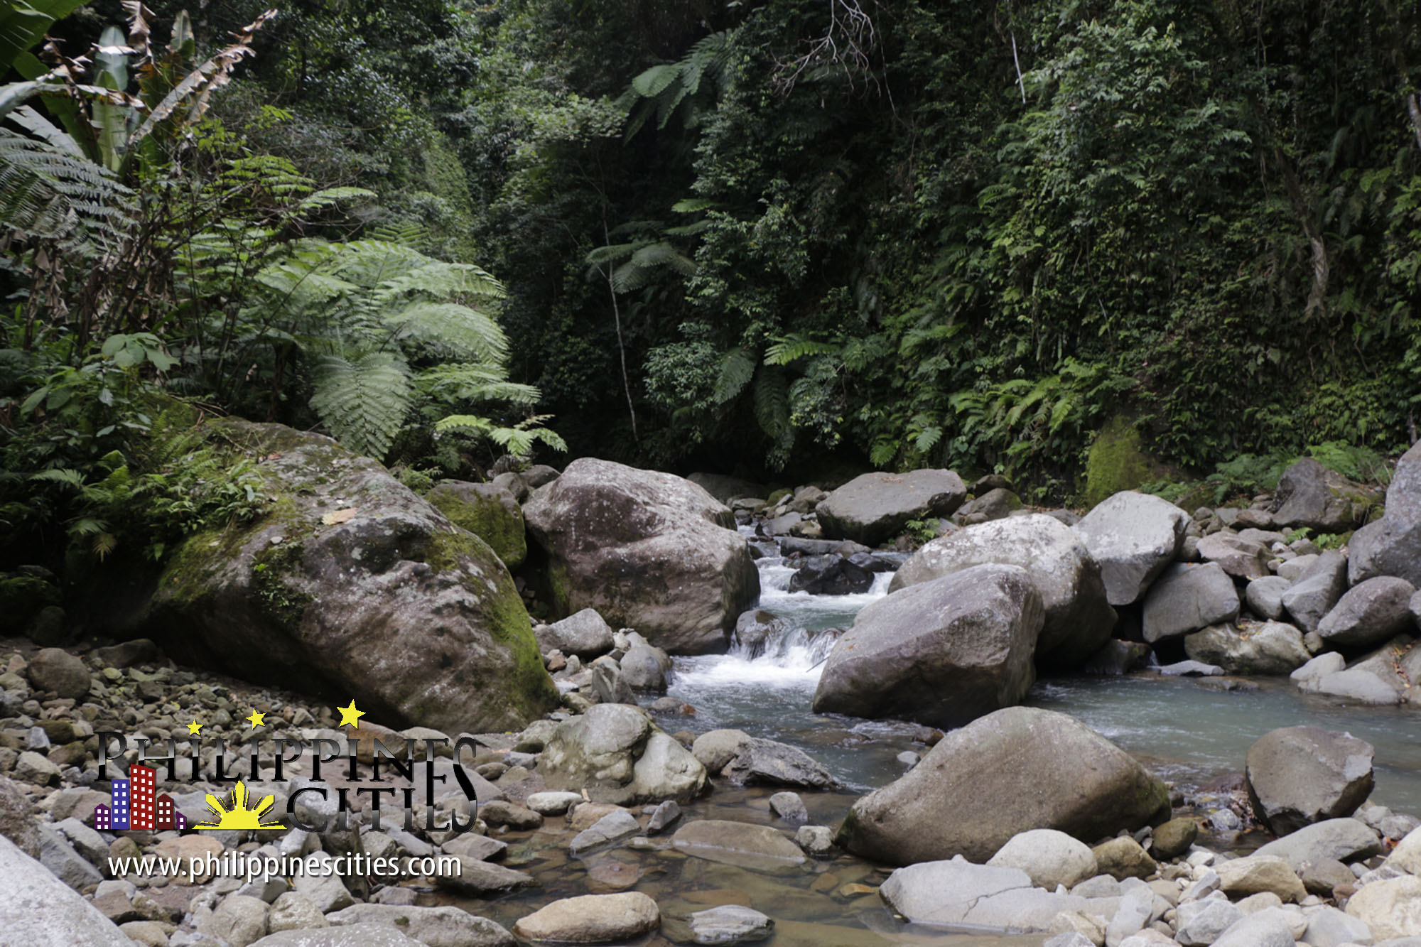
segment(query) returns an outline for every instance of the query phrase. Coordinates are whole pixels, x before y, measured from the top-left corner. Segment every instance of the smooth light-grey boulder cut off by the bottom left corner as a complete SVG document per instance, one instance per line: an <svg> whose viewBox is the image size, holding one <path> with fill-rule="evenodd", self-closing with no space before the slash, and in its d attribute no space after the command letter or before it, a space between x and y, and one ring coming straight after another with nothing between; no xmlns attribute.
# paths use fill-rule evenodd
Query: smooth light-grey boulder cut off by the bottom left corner
<svg viewBox="0 0 1421 947"><path fill-rule="evenodd" d="M132 947L114 921L7 838L0 838L0 931L26 947Z"/></svg>

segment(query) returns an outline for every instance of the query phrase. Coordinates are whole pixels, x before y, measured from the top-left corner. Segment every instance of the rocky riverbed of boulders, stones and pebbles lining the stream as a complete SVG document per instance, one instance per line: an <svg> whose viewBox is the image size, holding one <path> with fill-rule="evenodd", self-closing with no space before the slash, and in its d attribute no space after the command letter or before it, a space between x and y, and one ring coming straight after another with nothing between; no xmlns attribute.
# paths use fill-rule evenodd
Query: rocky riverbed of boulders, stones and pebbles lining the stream
<svg viewBox="0 0 1421 947"><path fill-rule="evenodd" d="M425 501L320 438L236 435L264 519L189 540L146 604L70 621L80 643L43 647L63 621L34 609L0 648L16 943L1421 944L1421 829L1373 798L1366 741L1275 728L1184 792L1020 705L1043 675L1152 667L1412 714L1418 451L1380 518L1306 462L1248 509L1080 516L946 471L759 498L600 461ZM676 656L793 637L753 607L769 550L789 594L887 592L800 643L827 727L885 721L853 737L891 761L867 793L676 697L676 660L706 660ZM99 646L122 628L158 640ZM263 815L196 829L244 801ZM155 825L112 825L128 805Z"/></svg>

